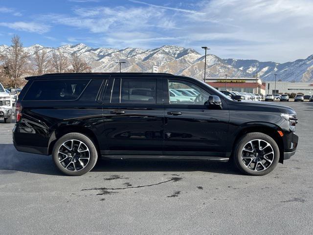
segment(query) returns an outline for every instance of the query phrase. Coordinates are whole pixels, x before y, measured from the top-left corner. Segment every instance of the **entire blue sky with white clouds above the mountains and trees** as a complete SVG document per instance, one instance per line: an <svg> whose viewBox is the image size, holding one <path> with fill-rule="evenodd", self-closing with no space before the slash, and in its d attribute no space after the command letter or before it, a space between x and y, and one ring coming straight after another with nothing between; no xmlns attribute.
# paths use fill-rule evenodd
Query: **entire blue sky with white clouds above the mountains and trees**
<svg viewBox="0 0 313 235"><path fill-rule="evenodd" d="M222 58L313 54L313 0L1 0L0 44L201 46Z"/></svg>

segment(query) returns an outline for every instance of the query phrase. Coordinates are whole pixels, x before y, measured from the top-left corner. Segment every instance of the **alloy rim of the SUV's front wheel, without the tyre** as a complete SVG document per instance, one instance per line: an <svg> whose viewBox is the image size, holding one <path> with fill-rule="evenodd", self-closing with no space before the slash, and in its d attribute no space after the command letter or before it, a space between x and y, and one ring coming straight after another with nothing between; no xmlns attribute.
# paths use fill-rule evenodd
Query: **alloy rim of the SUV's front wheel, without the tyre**
<svg viewBox="0 0 313 235"><path fill-rule="evenodd" d="M273 163L273 147L264 140L252 140L245 144L241 151L241 158L245 166L253 171L263 171Z"/></svg>

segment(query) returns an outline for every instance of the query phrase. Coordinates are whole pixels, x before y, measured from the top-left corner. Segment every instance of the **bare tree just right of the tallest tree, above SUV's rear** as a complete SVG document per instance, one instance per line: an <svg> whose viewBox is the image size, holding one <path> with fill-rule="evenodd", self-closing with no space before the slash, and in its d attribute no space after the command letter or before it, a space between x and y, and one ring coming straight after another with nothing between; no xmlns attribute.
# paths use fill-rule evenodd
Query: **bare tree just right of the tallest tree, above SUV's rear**
<svg viewBox="0 0 313 235"><path fill-rule="evenodd" d="M53 71L52 60L49 58L47 51L45 49L37 50L35 52L35 67L33 68L33 73L35 75L43 75L51 71Z"/></svg>

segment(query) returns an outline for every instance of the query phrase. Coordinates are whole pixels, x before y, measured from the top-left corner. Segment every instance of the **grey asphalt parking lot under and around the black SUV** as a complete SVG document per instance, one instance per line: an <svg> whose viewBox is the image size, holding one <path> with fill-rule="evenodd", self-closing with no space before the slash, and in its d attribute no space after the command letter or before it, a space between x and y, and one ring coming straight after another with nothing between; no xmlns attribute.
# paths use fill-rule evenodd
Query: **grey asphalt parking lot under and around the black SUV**
<svg viewBox="0 0 313 235"><path fill-rule="evenodd" d="M280 102L281 104L281 102ZM0 234L312 234L313 103L297 152L266 176L198 161L99 161L63 176L50 156L17 152L0 120Z"/></svg>

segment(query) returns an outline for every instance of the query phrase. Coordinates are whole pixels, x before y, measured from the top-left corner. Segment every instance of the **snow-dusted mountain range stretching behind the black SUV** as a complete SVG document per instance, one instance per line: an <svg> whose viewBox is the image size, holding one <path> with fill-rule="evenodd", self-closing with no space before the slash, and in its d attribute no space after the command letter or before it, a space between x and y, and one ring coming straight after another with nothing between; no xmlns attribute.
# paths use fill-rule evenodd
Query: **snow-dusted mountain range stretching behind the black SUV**
<svg viewBox="0 0 313 235"><path fill-rule="evenodd" d="M8 53L9 48L1 45L0 54ZM191 48L178 46L163 46L148 50L132 47L92 48L82 43L57 48L41 45L24 47L30 55L30 62L33 61L34 53L42 49L45 49L49 56L58 50L68 58L71 54L77 53L87 61L94 72L119 71L119 65L115 62L125 61L126 64L122 65L122 71L125 72L151 72L156 65L159 67L159 72L183 74L198 79L202 79L204 75L204 56ZM258 72L258 76L264 81L273 80L275 73L278 74L277 79L282 81L313 81L313 55L306 59L280 64L258 60L221 59L209 54L206 63L207 77L223 77L224 74L228 74L229 77L251 77Z"/></svg>

